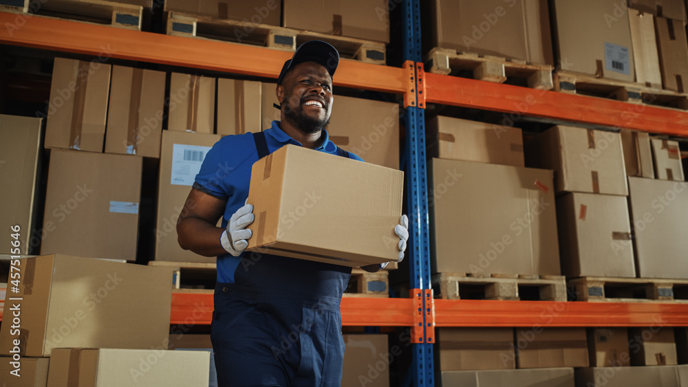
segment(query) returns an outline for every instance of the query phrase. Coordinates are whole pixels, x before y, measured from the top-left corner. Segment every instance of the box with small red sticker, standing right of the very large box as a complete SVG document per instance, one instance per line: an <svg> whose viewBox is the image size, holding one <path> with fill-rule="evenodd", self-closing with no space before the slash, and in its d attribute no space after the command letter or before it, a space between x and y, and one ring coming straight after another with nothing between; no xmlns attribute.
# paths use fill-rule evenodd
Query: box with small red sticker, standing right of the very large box
<svg viewBox="0 0 688 387"><path fill-rule="evenodd" d="M561 274L635 277L626 198L572 193L557 199Z"/></svg>

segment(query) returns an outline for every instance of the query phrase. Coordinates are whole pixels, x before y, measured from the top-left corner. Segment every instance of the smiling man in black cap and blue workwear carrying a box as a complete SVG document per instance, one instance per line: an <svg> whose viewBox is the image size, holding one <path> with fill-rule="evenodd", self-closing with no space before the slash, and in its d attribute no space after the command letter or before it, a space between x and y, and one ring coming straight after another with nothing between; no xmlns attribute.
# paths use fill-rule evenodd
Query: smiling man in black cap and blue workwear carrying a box
<svg viewBox="0 0 688 387"><path fill-rule="evenodd" d="M344 342L339 302L350 267L244 252L252 232L251 166L286 144L361 160L325 130L339 54L304 43L277 79L281 121L262 133L230 135L208 152L177 225L180 245L217 256L211 340L220 386L339 386ZM277 107L277 105L275 105ZM278 107L279 108L279 107ZM343 181L343 184L349 184ZM224 215L222 228L217 219ZM408 220L395 232L399 260ZM368 271L379 265L364 267Z"/></svg>

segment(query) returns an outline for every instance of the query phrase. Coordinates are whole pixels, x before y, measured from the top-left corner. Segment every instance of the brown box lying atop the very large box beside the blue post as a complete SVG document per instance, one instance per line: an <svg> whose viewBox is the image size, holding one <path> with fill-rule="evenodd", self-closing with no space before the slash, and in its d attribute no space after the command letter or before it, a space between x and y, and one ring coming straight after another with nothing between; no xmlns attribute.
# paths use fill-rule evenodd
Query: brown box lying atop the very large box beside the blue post
<svg viewBox="0 0 688 387"><path fill-rule="evenodd" d="M428 157L524 166L519 128L438 115L427 133Z"/></svg>

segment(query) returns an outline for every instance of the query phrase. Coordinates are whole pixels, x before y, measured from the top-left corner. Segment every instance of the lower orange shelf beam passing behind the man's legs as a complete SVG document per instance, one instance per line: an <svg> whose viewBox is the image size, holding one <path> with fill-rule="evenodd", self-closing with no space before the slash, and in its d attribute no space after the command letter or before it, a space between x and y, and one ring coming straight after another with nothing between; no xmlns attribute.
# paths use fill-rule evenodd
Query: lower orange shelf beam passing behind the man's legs
<svg viewBox="0 0 688 387"><path fill-rule="evenodd" d="M411 327L410 298L344 297L342 324L348 326ZM172 293L171 324L207 325L213 319L213 294Z"/></svg>

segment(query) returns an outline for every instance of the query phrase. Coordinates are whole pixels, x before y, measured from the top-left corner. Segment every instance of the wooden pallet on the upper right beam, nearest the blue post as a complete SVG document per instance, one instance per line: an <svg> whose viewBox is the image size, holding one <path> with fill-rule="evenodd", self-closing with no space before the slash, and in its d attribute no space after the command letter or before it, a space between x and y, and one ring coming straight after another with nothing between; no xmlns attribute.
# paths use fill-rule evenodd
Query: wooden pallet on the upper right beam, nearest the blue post
<svg viewBox="0 0 688 387"><path fill-rule="evenodd" d="M488 82L523 85L532 89L554 87L550 65L535 65L524 60L506 60L499 56L457 54L455 49L433 48L425 58L425 69L434 74L463 76Z"/></svg>

